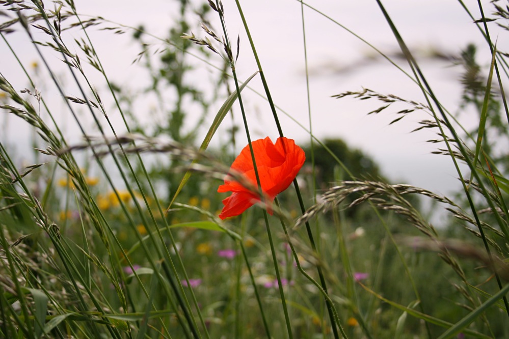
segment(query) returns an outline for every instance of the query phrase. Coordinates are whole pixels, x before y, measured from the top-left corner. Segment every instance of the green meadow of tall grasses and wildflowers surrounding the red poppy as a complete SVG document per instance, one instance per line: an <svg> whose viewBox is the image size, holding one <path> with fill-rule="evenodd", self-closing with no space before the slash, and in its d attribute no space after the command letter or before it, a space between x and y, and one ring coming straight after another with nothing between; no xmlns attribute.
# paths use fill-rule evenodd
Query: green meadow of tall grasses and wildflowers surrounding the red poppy
<svg viewBox="0 0 509 339"><path fill-rule="evenodd" d="M0 337L507 336L507 55L490 41L484 24L493 19L472 18L493 58L479 61L477 47L468 45L456 59L463 68L463 95L452 116L377 3L428 104L371 90L336 97L380 100L377 114L394 102L410 105L392 123L426 111L432 120L416 130L434 129L436 153L466 165L467 171L457 167L463 191L451 199L390 184L363 151L341 139L316 139L312 148L304 147L306 170L294 189L281 193L270 211L256 205L225 221L217 217L224 197L217 187L229 163L217 159L234 155L230 147L208 148L236 107L250 139L243 102L250 98L251 79L262 80L280 134L285 127L239 2L250 40L245 45L259 68L240 79L243 84L236 78L239 43L228 37L228 11L220 1L198 7L178 2L177 17L158 47L143 26L112 27L102 17L84 21L73 2L6 3L13 10L0 11L6 20L0 36L19 66L18 51L7 39L12 31L35 42L41 52L35 68L49 65L49 53L64 63L45 73L24 69L26 89L0 73L2 114L30 128L35 154L33 164L20 165L9 147L13 140L0 135ZM494 6L496 16L509 17ZM191 23L197 17L203 25L195 35ZM110 81L87 35L91 27L132 32L141 48L135 62L150 78L141 93ZM68 45L70 36L75 46ZM205 63L215 70L202 86L192 78ZM103 87L92 84L88 66L103 77ZM48 75L57 70L76 79L76 87ZM54 115L62 107L36 82L66 100L83 143L68 144ZM142 125L137 103L147 96L157 104L144 111L154 119ZM105 97L116 103L120 124L110 120ZM223 105L212 111L218 102ZM76 107L84 111L78 114ZM472 115L478 123L464 129L463 117ZM215 119L209 125L206 117ZM228 131L232 144L237 128ZM436 229L422 215L419 197L447 208L446 228Z"/></svg>

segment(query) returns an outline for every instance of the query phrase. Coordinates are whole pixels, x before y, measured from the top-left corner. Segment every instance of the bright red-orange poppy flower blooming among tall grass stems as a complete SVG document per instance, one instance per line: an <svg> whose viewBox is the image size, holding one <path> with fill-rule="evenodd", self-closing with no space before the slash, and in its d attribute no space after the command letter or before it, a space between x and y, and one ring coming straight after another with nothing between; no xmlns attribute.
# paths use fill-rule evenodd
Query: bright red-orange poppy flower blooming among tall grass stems
<svg viewBox="0 0 509 339"><path fill-rule="evenodd" d="M269 200L267 203L272 203L276 195L288 188L297 176L306 160L306 155L292 139L285 137L279 137L275 145L268 136L252 142L252 145L261 189ZM233 161L230 170L243 174L255 187L258 187L249 145ZM221 219L239 215L260 201L258 194L230 179L231 177L226 177L225 184L218 188L218 192L232 192L223 200L225 207L219 215Z"/></svg>

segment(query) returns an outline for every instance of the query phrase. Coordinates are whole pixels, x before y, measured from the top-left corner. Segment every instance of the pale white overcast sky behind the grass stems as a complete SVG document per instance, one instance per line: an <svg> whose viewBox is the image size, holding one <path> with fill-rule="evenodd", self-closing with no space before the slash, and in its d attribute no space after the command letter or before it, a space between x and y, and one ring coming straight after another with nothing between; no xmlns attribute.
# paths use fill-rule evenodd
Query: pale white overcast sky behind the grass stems
<svg viewBox="0 0 509 339"><path fill-rule="evenodd" d="M175 13L177 2L151 0L146 2L149 5L142 6L140 3L134 0L75 0L79 13L100 15L132 26L143 23L148 32L165 38L168 27L177 17ZM468 4L471 6L470 10L474 17L478 18L476 2L470 3ZM486 3L485 14L490 16L493 8L489 3L484 3ZM257 0L241 1L241 4L276 104L294 119L309 127L300 3L296 0ZM376 2L312 0L308 4L316 6L318 10L331 16L383 52L392 55L398 51ZM425 58L425 54L431 49L459 54L469 42L481 45L482 37L472 20L459 3L453 1L387 0L384 5L407 44L416 52L438 98L446 108L456 112L461 94L461 88L458 86L461 69L449 67L448 62L430 61ZM246 79L256 71L256 65L235 2L225 0L224 7L230 38L235 40L237 34L240 34L240 56L236 69L239 79ZM321 138L341 137L352 146L361 148L374 157L382 165L383 172L394 181L401 180L442 193L451 187L457 187L454 179L456 175L450 160L432 155L430 152L435 150L436 145L425 142L434 138L434 134L429 131L410 133L417 127L418 121L427 119L426 116L411 115L389 126L389 122L396 118L395 111L408 108L407 106L398 105L377 116L367 116L367 112L381 104L348 98L341 100L331 98L334 94L358 91L365 87L382 94L395 94L422 102L424 98L417 86L385 60L365 63L365 58L376 55L375 52L338 25L309 8L305 8L304 15L313 133ZM198 23L199 19L196 20ZM212 23L217 29L220 28L216 18ZM495 28L495 25L492 27ZM146 81L146 78L138 66L131 65L140 51L132 42L131 34L119 36L104 31L98 32L93 28L89 33L110 77L132 90L140 88L139 84ZM200 30L194 30L194 33L197 36L204 36ZM71 35L78 37L81 33L73 31ZM34 49L25 36L13 34L8 38L16 52L22 55L24 63L37 60ZM495 39L497 36L492 38ZM498 38L498 47L503 50L505 36L501 35ZM78 49L77 46L75 48ZM16 63L3 41L0 41L0 55L3 65L7 63L14 65L13 68L2 67L4 76L8 79L15 78L14 74L17 74L19 69L16 68ZM56 63L59 62L56 56L52 56L52 59ZM489 65L490 59L489 50L482 45L478 53L478 62L486 66ZM405 61L396 59L396 62L408 69ZM203 74L206 76L208 72L213 70L207 68ZM97 88L104 90L104 83L100 77L97 77L97 81ZM26 86L25 82L21 81L16 86L22 89ZM253 79L250 84L262 92L259 78ZM269 135L275 139L277 130L269 106L253 93L245 91L243 94L252 126L252 137L256 139ZM57 93L52 95L56 98L59 96ZM71 95L79 96L77 92ZM106 101L108 98L103 96L103 100ZM218 108L220 105L221 103L218 103ZM150 103L143 107L147 106L150 106ZM235 111L239 113L238 109ZM140 108L140 113L141 116L146 115L143 108ZM114 121L120 124L119 119L115 120L114 111L111 115ZM473 120L468 121L472 115L462 117L467 119L463 123L472 124ZM237 125L242 126L239 118L236 119ZM209 117L210 121L212 119L213 117ZM300 127L283 116L280 116L280 119L283 131L288 137L300 143L308 142L308 134ZM225 123L228 121L229 118L225 119ZM17 128L17 122L11 119L9 124L13 126L10 129L13 133ZM225 126L223 131L227 127ZM242 133L239 133L240 135ZM215 142L220 141L221 133L218 133ZM242 145L244 142L239 140L239 144Z"/></svg>

